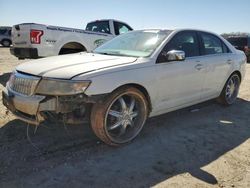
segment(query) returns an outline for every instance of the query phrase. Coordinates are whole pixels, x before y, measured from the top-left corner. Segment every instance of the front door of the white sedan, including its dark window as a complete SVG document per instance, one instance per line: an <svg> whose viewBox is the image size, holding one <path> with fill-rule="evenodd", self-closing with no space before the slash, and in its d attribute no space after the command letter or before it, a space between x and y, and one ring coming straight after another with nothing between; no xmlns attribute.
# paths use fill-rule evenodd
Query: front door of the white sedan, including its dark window
<svg viewBox="0 0 250 188"><path fill-rule="evenodd" d="M200 100L205 79L198 35L195 31L177 33L163 48L156 62L158 111L195 103ZM184 61L168 62L161 54L171 50L185 52Z"/></svg>

